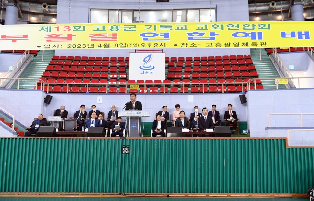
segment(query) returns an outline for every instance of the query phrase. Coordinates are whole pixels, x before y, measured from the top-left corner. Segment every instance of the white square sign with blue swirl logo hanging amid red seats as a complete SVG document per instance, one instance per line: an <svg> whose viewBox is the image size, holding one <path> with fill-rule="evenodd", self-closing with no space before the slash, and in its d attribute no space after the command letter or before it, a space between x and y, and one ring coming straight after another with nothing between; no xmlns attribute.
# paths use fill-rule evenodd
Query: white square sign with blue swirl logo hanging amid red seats
<svg viewBox="0 0 314 201"><path fill-rule="evenodd" d="M165 80L165 53L130 53L129 79Z"/></svg>

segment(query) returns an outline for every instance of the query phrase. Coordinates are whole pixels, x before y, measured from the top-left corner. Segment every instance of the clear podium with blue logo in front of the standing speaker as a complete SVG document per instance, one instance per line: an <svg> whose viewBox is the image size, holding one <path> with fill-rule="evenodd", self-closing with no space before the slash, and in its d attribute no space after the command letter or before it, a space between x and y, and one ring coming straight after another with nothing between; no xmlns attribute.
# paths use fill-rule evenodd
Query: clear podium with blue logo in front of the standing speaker
<svg viewBox="0 0 314 201"><path fill-rule="evenodd" d="M118 112L119 117L126 117L125 126L127 137L143 137L141 133L142 117L150 117L149 111L122 110Z"/></svg>

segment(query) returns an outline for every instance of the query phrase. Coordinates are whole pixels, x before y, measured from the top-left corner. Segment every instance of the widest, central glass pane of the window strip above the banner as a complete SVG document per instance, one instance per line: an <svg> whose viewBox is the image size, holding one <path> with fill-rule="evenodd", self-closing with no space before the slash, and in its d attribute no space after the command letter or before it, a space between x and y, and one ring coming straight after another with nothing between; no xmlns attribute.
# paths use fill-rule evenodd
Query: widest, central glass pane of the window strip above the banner
<svg viewBox="0 0 314 201"><path fill-rule="evenodd" d="M172 22L171 10L134 11L134 22Z"/></svg>

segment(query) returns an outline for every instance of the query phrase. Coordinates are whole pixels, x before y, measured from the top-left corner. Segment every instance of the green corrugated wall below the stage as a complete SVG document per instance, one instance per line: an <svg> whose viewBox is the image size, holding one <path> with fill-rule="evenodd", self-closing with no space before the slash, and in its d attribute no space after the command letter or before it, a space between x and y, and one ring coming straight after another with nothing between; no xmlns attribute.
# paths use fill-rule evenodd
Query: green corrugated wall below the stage
<svg viewBox="0 0 314 201"><path fill-rule="evenodd" d="M121 154L122 145L130 154ZM306 193L314 148L284 139L0 138L0 192Z"/></svg>

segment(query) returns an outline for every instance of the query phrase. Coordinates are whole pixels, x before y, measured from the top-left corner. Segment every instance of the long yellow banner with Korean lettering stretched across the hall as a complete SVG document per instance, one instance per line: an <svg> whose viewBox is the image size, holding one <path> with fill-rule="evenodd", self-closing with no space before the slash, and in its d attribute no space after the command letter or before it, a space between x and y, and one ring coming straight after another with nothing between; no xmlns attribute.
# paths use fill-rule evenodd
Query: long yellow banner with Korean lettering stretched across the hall
<svg viewBox="0 0 314 201"><path fill-rule="evenodd" d="M0 50L314 46L314 22L1 25Z"/></svg>

